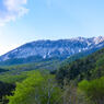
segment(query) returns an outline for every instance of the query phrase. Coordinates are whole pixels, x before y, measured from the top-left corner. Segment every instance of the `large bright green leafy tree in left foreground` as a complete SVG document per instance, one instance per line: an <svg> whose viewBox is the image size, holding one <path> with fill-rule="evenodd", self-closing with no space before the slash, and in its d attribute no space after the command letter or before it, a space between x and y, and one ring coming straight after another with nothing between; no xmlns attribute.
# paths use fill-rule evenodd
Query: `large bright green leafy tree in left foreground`
<svg viewBox="0 0 104 104"><path fill-rule="evenodd" d="M54 104L60 95L61 90L53 76L35 71L22 83L16 84L14 95L9 96L9 104Z"/></svg>

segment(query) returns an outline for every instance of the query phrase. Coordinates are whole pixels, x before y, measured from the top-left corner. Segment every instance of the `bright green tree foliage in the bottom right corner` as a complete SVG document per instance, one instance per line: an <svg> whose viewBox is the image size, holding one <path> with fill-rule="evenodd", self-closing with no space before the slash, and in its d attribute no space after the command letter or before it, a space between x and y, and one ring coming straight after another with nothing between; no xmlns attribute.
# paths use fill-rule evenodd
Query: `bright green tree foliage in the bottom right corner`
<svg viewBox="0 0 104 104"><path fill-rule="evenodd" d="M88 100L94 104L104 103L104 77L92 81L82 81L79 83L79 90L84 92Z"/></svg>

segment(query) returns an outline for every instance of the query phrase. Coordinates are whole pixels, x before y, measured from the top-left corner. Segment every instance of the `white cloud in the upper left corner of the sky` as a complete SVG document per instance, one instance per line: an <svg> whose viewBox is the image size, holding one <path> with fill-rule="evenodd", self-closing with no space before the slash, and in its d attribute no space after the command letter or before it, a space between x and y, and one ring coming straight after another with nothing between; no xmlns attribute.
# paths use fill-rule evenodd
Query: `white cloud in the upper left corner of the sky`
<svg viewBox="0 0 104 104"><path fill-rule="evenodd" d="M0 25L15 21L16 18L23 16L28 11L25 8L27 0L1 0L0 3Z"/></svg>

